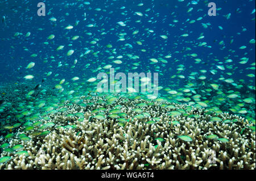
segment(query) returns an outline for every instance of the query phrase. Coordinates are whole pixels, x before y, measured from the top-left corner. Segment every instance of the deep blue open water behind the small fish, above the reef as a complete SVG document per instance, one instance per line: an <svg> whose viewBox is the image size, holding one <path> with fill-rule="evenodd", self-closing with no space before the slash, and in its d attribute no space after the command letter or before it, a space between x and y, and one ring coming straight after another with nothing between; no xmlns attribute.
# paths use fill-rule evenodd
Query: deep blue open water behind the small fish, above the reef
<svg viewBox="0 0 256 181"><path fill-rule="evenodd" d="M44 1L43 1L44 2ZM101 46L105 46L110 43L113 47L117 48L117 54L126 53L126 50L119 49L124 43L130 43L133 45L133 49L128 49L132 54L140 57L139 61L145 62L148 65L148 58L158 57L159 54L167 55L172 54L172 58L168 61L164 75L175 75L175 70L168 70L173 65L183 64L187 72L198 71L200 69L209 69L211 64L216 64L213 61L214 58L224 61L224 57L228 57L233 60L234 70L233 78L246 79L246 74L252 73L252 70L245 70L249 64L255 61L255 44L249 44L251 39L255 39L255 13L251 14L254 9L255 1L216 1L217 8L221 7L221 10L217 11L217 16L208 16L207 4L203 1L199 1L197 5L188 5L189 1L177 2L177 1L142 1L143 6L137 6L140 1L92 1L90 5L82 5L83 1L51 1L46 3L46 16L37 15L37 1L1 1L1 16L6 16L5 23L1 23L0 36L1 36L1 81L9 82L16 81L19 77L26 75L24 68L30 61L34 61L36 66L30 70L31 74L35 74L35 81L39 81L44 77L43 72L53 71L59 73L59 77L71 77L76 74L86 73L82 70L84 68L86 59L94 58L92 56L86 56L85 59L78 59L78 64L75 69L68 70L67 68L50 68L56 66L57 62L65 62L72 64L73 60L79 58L80 53L85 52L84 48L88 47L86 41L92 40L92 37L85 35L84 32L95 33L94 37L99 38L98 45L94 48L94 51L101 51L99 56L100 62L106 61L108 54L102 52ZM80 6L82 5L82 6ZM188 6L187 6L188 5ZM65 7L66 6L66 7ZM80 7L79 7L80 6ZM121 10L120 7L125 6L125 9ZM193 10L187 13L189 7L193 7ZM100 8L101 11L94 9ZM151 10L145 12L148 16L134 15L134 12L140 11L144 13L144 10L150 8ZM239 10L238 10L239 9ZM105 10L105 11L103 11ZM200 10L197 12L197 10ZM125 15L121 15L121 12L125 12ZM241 11L241 12L238 12ZM86 20L84 19L84 12L86 12ZM110 12L112 12L110 14ZM65 15L68 13L69 15ZM172 22L175 19L179 20L178 23ZM226 19L224 15L231 14L230 19ZM185 23L185 20L197 19L204 17L200 21L189 24ZM49 21L49 18L55 17L56 23ZM141 19L141 23L135 23L135 20ZM147 22L152 19L152 22ZM63 22L60 22L63 20ZM79 20L79 25L72 30L64 30L64 27L68 24L74 25L76 20ZM119 21L127 22L126 27L118 26ZM211 26L203 28L201 23L210 23ZM97 24L98 27L88 28L88 24ZM175 27L170 27L168 24L175 24ZM222 26L223 30L220 30L218 26ZM38 28L43 28L39 31ZM106 35L100 35L100 30L104 28L104 32L110 31ZM144 31L145 28L154 30L154 34L150 33L150 36ZM246 31L242 32L242 28L246 28ZM129 39L125 41L117 41L118 32L127 33L131 35L134 30L139 30L137 38ZM27 32L31 32L31 36L26 38L24 35ZM15 32L21 32L23 35L14 37ZM164 42L159 35L166 35L168 32L168 40ZM188 37L180 37L183 33L189 33ZM203 40L197 40L200 33L204 33ZM239 35L238 35L239 33ZM43 42L47 41L47 37L51 34L55 35L53 40L49 40L49 45L44 45ZM71 41L67 40L67 36L79 35L79 40L73 41L72 47L67 45ZM130 36L131 37L131 36ZM230 44L230 40L234 42ZM144 40L143 45L137 45L134 41ZM214 42L215 40L215 42ZM225 42L225 48L220 49L222 46L218 43L223 40ZM80 41L80 42L79 42ZM207 42L207 45L212 48L204 47L192 47L191 42ZM175 45L177 43L177 45ZM57 45L65 45L64 50L56 52ZM90 45L90 44L89 44ZM238 49L242 45L246 45L246 49ZM11 48L13 46L13 48ZM24 51L23 47L26 47L28 51ZM147 53L141 52L140 49L147 48ZM191 51L181 52L184 48L190 47ZM75 49L75 53L71 57L65 56L68 49ZM89 48L90 49L90 48ZM235 50L231 53L229 50ZM179 53L174 53L179 51ZM31 58L32 53L38 54L37 57ZM184 57L187 53L197 53L200 55L201 60L205 64L194 64L193 57ZM210 54L212 53L212 54ZM57 56L59 54L59 57ZM209 55L210 54L210 55ZM246 54L246 55L245 55ZM49 56L55 56L55 62L51 62ZM238 64L241 57L249 58L249 61L245 65ZM48 62L42 63L43 58L46 58ZM175 64L172 60L178 59ZM189 66L192 66L189 68ZM213 65L214 66L214 65ZM20 70L18 71L18 68ZM189 68L189 69L188 69ZM142 69L143 71L143 69ZM62 76L61 76L62 75ZM65 75L65 76L64 76ZM166 76L166 77L167 77ZM254 79L250 79L254 81Z"/></svg>

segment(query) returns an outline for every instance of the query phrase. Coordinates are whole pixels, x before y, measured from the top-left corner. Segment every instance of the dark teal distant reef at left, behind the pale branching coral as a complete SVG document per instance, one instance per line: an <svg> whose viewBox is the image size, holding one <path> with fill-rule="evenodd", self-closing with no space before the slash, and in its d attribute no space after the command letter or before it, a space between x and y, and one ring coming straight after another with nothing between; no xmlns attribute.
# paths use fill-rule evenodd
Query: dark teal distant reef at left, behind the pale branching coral
<svg viewBox="0 0 256 181"><path fill-rule="evenodd" d="M30 110L30 113L42 112L35 104L40 100L51 99L56 90L51 86L36 87L35 83L6 83L0 87L0 136L5 133L6 124L18 122L18 113ZM28 92L33 92L28 95ZM31 106L34 106L31 109ZM27 109L28 107L28 109ZM33 112L31 110L34 110Z"/></svg>

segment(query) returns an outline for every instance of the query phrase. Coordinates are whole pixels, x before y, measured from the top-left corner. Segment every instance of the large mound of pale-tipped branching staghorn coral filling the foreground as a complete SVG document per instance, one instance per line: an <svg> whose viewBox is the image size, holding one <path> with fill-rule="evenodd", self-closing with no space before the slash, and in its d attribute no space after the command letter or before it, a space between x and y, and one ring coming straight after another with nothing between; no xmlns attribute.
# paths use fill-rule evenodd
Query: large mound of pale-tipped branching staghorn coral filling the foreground
<svg viewBox="0 0 256 181"><path fill-rule="evenodd" d="M143 99L127 99L120 96L108 104L105 96L81 97L86 107L65 103L65 112L48 115L45 121L55 123L47 128L49 134L31 136L22 129L10 140L10 145L23 145L28 155L17 155L3 151L1 157L11 159L0 165L0 169L255 169L255 132L240 116L223 113L212 115L204 109L187 104L150 102ZM92 104L93 103L93 104ZM133 109L139 103L150 116L138 119ZM173 105L175 108L167 108ZM122 106L127 114L126 122L118 124L109 117L109 111ZM106 119L98 120L94 110L100 110ZM187 110L180 116L171 116L170 111ZM77 112L84 117L75 116ZM97 112L97 111L96 111ZM67 116L69 114L74 116ZM197 116L193 116L197 115ZM222 120L236 120L234 123L212 122L212 117ZM147 124L159 117L154 124ZM170 124L179 121L179 124ZM74 126L70 129L63 126ZM61 127L62 126L62 127ZM18 140L18 134L25 133L30 141ZM211 140L210 134L227 138L228 142ZM177 136L189 136L185 142ZM162 138L163 141L159 141Z"/></svg>

